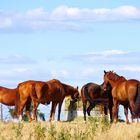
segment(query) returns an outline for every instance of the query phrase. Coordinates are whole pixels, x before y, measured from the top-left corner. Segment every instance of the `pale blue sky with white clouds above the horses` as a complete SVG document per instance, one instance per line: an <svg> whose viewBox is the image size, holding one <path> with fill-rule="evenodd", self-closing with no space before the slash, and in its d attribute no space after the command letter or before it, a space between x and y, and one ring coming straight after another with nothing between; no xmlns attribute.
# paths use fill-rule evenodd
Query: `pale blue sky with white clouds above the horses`
<svg viewBox="0 0 140 140"><path fill-rule="evenodd" d="M103 71L140 79L138 0L0 0L0 85L58 79L81 88Z"/></svg>

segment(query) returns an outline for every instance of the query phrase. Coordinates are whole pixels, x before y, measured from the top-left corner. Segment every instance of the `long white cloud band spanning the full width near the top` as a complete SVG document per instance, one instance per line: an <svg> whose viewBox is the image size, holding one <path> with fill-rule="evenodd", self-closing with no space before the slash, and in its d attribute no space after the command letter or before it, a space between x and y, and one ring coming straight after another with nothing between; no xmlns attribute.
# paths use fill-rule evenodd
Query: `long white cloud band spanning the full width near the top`
<svg viewBox="0 0 140 140"><path fill-rule="evenodd" d="M120 6L117 8L75 8L59 6L51 12L43 8L21 12L0 12L0 29L11 27L25 30L81 30L82 23L140 20L140 9L134 6Z"/></svg>

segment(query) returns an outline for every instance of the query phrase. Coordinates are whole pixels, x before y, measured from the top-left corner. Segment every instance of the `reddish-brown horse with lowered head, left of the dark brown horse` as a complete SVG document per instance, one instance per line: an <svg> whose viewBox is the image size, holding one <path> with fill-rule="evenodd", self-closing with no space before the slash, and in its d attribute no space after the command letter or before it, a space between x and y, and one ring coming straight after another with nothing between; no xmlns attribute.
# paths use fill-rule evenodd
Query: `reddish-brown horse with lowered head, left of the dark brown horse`
<svg viewBox="0 0 140 140"><path fill-rule="evenodd" d="M61 83L59 80L53 79L46 82L48 88L45 95L41 98L38 98L36 101L38 103L47 103L52 101L52 108L50 113L50 121L54 120L54 114L56 106L58 104L58 121L60 121L61 106L63 100L67 96L71 96L72 100L75 102L79 99L79 92L77 88L74 88L70 85ZM38 97L38 96L37 96Z"/></svg>

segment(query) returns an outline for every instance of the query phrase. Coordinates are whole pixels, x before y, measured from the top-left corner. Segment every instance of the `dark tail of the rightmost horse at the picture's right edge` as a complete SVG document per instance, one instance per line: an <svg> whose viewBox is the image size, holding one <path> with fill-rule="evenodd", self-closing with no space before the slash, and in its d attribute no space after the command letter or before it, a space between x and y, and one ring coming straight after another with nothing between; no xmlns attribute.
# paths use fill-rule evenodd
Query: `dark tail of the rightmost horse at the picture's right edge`
<svg viewBox="0 0 140 140"><path fill-rule="evenodd" d="M135 101L135 115L140 118L140 82L137 85L137 96Z"/></svg>

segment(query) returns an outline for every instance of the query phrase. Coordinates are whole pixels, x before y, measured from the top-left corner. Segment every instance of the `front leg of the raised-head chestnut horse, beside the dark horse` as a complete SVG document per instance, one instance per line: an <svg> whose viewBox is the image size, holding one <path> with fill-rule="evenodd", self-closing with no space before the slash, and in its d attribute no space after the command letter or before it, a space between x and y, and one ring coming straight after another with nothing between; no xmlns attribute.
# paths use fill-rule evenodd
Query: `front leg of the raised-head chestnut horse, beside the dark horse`
<svg viewBox="0 0 140 140"><path fill-rule="evenodd" d="M118 119L118 103L116 99L113 99L113 122L117 123Z"/></svg>

